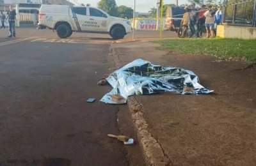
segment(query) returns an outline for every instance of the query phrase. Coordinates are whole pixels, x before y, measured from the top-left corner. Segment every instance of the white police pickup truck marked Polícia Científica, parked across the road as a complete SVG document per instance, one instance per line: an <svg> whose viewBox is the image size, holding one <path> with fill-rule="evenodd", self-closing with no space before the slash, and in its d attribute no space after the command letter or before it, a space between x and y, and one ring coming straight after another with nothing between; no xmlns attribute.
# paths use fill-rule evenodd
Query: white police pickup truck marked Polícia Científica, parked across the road
<svg viewBox="0 0 256 166"><path fill-rule="evenodd" d="M38 28L53 29L60 38L68 38L72 32L106 33L113 39L124 38L131 33L129 20L111 17L91 6L67 6L42 4L38 16Z"/></svg>

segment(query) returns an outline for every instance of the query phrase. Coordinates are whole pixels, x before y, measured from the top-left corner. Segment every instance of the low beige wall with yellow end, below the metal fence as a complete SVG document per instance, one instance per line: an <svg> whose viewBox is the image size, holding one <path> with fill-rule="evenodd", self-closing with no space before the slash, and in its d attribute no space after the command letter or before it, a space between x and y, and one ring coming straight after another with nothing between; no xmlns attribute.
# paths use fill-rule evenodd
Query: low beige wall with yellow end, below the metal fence
<svg viewBox="0 0 256 166"><path fill-rule="evenodd" d="M256 39L256 27L220 25L217 27L216 36L220 38Z"/></svg>

